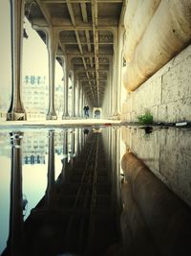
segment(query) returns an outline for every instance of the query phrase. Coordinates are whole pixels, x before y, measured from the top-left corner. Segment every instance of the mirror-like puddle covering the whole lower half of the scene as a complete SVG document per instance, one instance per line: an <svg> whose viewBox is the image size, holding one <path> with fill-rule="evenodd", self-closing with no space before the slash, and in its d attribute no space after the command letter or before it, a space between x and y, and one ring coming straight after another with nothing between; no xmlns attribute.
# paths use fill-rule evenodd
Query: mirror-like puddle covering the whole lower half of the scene
<svg viewBox="0 0 191 256"><path fill-rule="evenodd" d="M120 162L127 152L122 170ZM139 172L142 165L146 171L141 175L147 179L137 180L137 167ZM136 186L142 188L145 198L152 194L146 203ZM131 193L134 200L127 197ZM164 206L166 198L170 198L169 208ZM155 204L149 211L145 205L158 200L161 212L156 215ZM135 243L143 252L145 249L145 255L190 255L186 247L184 254L171 248L179 235L171 238L172 232L168 232L167 239L173 242L160 249L161 230L153 234L159 222L167 226L176 220L180 226L172 224L173 229L168 229L183 235L185 242L191 239L190 206L190 129L158 127L148 131L104 124L94 128L13 128L11 133L4 127L0 131L2 255L135 256L139 255ZM176 218L172 211L179 212ZM138 213L143 221L137 219ZM150 220L159 218L155 227L145 213ZM170 214L172 218L167 219ZM142 222L146 223L143 229ZM140 239L140 229L142 237L149 233L152 249Z"/></svg>

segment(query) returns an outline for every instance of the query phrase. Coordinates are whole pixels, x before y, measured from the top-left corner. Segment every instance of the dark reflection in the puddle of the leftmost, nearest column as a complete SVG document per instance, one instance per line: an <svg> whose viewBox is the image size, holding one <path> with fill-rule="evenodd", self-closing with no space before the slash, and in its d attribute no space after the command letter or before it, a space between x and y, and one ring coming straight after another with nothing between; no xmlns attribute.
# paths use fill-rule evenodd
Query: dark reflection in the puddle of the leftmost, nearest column
<svg viewBox="0 0 191 256"><path fill-rule="evenodd" d="M11 212L8 247L14 256L24 255L22 194L22 132L11 133Z"/></svg>

